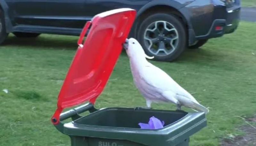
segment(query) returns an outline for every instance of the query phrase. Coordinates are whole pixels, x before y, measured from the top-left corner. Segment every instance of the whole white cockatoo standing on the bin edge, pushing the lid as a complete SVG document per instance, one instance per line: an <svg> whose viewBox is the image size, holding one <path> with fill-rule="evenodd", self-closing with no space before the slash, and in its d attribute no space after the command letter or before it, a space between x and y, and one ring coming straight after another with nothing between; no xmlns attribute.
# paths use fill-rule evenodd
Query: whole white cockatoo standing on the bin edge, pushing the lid
<svg viewBox="0 0 256 146"><path fill-rule="evenodd" d="M171 102L177 105L177 110L186 106L195 111L209 112L167 73L149 63L146 58L154 57L147 56L136 39L126 39L124 49L130 60L134 84L146 99L147 108L151 108L152 102Z"/></svg>

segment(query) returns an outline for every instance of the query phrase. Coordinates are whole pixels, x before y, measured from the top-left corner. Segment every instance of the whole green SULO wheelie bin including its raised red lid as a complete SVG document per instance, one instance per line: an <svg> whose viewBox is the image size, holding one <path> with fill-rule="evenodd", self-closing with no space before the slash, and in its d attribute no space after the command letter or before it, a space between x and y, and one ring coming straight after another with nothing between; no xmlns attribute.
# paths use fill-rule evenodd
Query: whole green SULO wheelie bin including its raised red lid
<svg viewBox="0 0 256 146"><path fill-rule="evenodd" d="M94 107L135 16L136 11L129 8L103 12L88 21L81 32L51 119L61 133L71 138L71 146L188 146L189 137L206 126L204 112ZM82 105L63 112L79 104ZM79 115L87 111L86 116ZM138 124L147 123L152 116L163 120L164 127L141 129ZM69 118L71 122L63 122Z"/></svg>

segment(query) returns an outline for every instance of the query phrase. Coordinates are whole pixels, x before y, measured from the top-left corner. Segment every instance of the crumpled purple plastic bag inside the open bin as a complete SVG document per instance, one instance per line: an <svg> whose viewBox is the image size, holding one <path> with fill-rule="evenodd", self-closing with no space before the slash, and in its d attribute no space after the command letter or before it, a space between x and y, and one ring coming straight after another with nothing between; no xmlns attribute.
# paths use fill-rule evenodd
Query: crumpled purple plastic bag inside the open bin
<svg viewBox="0 0 256 146"><path fill-rule="evenodd" d="M140 129L160 129L164 127L164 121L160 121L159 119L155 118L154 116L151 117L146 123L139 123Z"/></svg>

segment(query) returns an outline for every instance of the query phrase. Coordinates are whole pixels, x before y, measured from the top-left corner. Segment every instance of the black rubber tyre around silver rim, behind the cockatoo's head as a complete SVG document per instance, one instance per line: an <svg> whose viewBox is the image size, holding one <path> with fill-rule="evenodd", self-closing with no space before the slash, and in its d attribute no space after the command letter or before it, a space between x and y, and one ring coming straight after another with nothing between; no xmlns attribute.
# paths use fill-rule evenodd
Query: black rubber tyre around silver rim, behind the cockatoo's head
<svg viewBox="0 0 256 146"><path fill-rule="evenodd" d="M175 42L175 43L177 43L176 49L173 49L172 52L170 51L170 54L167 54L167 53L165 53L165 55L153 54L147 47L148 42L144 39L144 34L145 34L146 29L150 25L152 25L154 22L159 22L159 21L168 22L177 30L177 31L175 31L175 33L178 33L178 41ZM171 36L170 36L170 38L171 38ZM180 18L176 17L175 15L167 13L167 12L157 12L155 14L149 15L146 19L144 19L142 21L142 23L139 25L137 39L140 42L141 46L143 47L145 53L148 56L154 56L154 60L156 60L156 61L174 61L187 48L187 35L186 35L185 26L184 26L182 20ZM163 41L161 41L161 42L163 42ZM168 42L168 40L167 40L167 42ZM166 45L168 44L167 42L164 41L165 48L167 48L166 47ZM160 41L158 42L158 49L160 48L159 44L160 44Z"/></svg>

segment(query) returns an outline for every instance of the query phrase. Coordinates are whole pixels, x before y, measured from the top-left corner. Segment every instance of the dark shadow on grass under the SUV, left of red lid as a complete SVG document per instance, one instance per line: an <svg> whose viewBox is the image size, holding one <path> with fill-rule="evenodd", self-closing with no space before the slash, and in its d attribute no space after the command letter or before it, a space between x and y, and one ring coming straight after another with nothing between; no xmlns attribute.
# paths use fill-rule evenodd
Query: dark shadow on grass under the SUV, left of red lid
<svg viewBox="0 0 256 146"><path fill-rule="evenodd" d="M17 38L10 35L4 42L5 46L38 47L39 49L77 49L76 36L40 35L37 38Z"/></svg>

